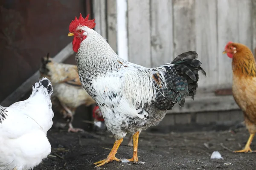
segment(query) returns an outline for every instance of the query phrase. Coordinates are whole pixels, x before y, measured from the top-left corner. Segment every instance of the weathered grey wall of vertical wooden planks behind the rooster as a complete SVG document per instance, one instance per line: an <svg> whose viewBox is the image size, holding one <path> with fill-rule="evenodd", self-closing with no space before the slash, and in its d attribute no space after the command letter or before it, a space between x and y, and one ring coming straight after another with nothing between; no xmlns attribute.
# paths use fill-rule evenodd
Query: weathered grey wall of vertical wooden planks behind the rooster
<svg viewBox="0 0 256 170"><path fill-rule="evenodd" d="M154 67L195 50L207 72L199 81L203 91L231 87L231 59L222 55L228 41L256 48L256 0L127 0L127 6L129 61ZM96 31L116 51L116 0L95 1L93 9Z"/></svg>

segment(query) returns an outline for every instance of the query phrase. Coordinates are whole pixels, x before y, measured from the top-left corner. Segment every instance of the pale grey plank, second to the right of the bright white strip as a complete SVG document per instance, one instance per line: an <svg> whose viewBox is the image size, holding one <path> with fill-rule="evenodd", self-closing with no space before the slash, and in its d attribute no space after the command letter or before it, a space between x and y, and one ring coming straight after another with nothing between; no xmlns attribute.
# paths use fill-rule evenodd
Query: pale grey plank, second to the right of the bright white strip
<svg viewBox="0 0 256 170"><path fill-rule="evenodd" d="M172 0L151 0L152 67L171 62L173 57Z"/></svg>

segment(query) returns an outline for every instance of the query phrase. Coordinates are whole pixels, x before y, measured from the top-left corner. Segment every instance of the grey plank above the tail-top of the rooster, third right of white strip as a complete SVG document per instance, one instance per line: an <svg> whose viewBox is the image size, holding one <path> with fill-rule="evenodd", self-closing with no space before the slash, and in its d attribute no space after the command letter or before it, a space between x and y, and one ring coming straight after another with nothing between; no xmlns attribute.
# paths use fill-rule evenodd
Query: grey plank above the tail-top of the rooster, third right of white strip
<svg viewBox="0 0 256 170"><path fill-rule="evenodd" d="M195 0L173 0L174 56L195 50Z"/></svg>

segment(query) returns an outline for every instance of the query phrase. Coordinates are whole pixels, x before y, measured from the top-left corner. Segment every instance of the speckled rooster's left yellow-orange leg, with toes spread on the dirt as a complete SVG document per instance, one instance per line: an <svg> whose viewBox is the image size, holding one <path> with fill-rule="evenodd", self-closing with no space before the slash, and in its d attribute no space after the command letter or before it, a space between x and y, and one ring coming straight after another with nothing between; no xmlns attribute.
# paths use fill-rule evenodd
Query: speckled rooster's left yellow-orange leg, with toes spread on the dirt
<svg viewBox="0 0 256 170"><path fill-rule="evenodd" d="M119 139L115 142L111 152L108 154L107 159L103 159L102 161L98 161L96 163L94 163L95 165L97 165L96 167L100 167L102 165L108 164L111 161L121 161L120 159L116 158L116 153L118 150L118 147L120 146L120 144L122 143L123 139Z"/></svg>

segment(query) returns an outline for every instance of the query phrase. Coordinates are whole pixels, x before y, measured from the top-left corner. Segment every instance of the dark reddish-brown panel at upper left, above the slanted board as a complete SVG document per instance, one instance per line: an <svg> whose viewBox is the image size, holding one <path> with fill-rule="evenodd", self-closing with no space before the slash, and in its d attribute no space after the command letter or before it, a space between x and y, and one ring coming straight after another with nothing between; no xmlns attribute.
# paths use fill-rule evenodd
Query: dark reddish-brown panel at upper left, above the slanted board
<svg viewBox="0 0 256 170"><path fill-rule="evenodd" d="M38 70L42 56L72 41L68 26L85 8L83 0L0 0L0 101Z"/></svg>

